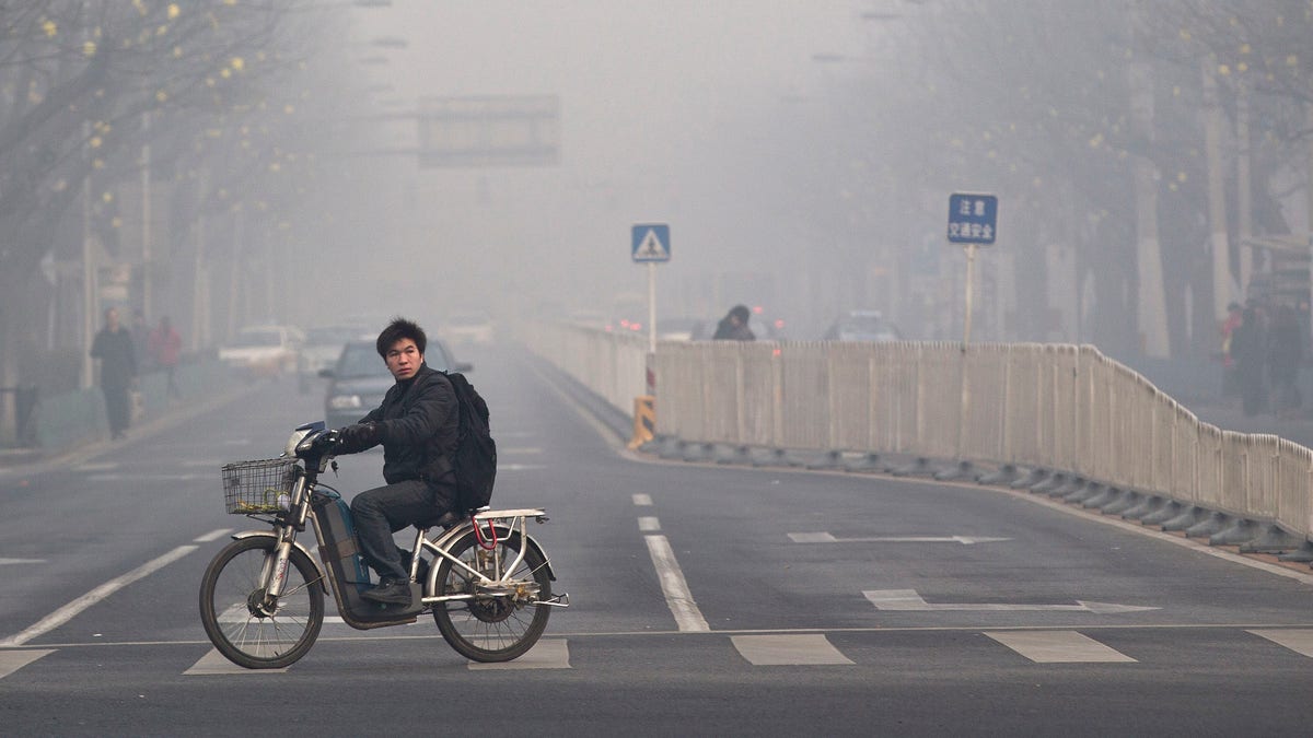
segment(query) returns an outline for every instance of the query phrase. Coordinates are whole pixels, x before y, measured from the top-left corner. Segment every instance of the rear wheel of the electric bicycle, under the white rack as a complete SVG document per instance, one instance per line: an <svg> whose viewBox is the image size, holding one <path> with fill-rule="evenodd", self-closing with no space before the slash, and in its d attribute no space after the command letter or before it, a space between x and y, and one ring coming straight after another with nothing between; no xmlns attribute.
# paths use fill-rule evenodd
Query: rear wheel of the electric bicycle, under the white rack
<svg viewBox="0 0 1313 738"><path fill-rule="evenodd" d="M500 580L496 590L478 586L469 571L439 557L437 592L471 594L474 597L436 603L433 620L456 653L477 662L504 662L524 655L538 642L551 615L550 607L533 604L551 597L546 559L530 546L520 565L506 571L519 555L520 534L499 528L498 536L496 545L484 549L470 531L448 549L470 569Z"/></svg>

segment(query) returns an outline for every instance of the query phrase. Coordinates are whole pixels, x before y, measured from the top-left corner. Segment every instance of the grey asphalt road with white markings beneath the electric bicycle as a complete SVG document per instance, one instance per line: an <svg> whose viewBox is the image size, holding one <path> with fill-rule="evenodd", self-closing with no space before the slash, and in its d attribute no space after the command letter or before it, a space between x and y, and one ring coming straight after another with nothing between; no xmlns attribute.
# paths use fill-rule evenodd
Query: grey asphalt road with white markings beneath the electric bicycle
<svg viewBox="0 0 1313 738"><path fill-rule="evenodd" d="M527 356L463 349L494 504L542 506L555 611L516 662L428 620L326 624L285 671L197 615L238 529L218 467L319 394L268 383L98 456L0 470L0 733L1191 734L1313 725L1313 571L974 485L654 462ZM194 391L194 390L193 390ZM382 457L340 460L343 492ZM330 608L331 608L330 603Z"/></svg>

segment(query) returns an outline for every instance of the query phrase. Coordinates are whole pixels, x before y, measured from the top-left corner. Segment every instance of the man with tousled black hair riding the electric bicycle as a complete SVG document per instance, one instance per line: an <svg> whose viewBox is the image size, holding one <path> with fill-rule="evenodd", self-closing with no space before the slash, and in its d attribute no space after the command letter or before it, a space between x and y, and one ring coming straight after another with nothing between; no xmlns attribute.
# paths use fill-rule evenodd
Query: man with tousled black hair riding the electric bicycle
<svg viewBox="0 0 1313 738"><path fill-rule="evenodd" d="M435 520L456 507L452 457L460 433L460 404L445 374L424 364L424 330L397 318L374 344L397 383L383 402L353 425L339 429L335 453L383 445L383 481L351 500L361 554L378 573L378 586L360 596L408 605L410 571L393 533Z"/></svg>

